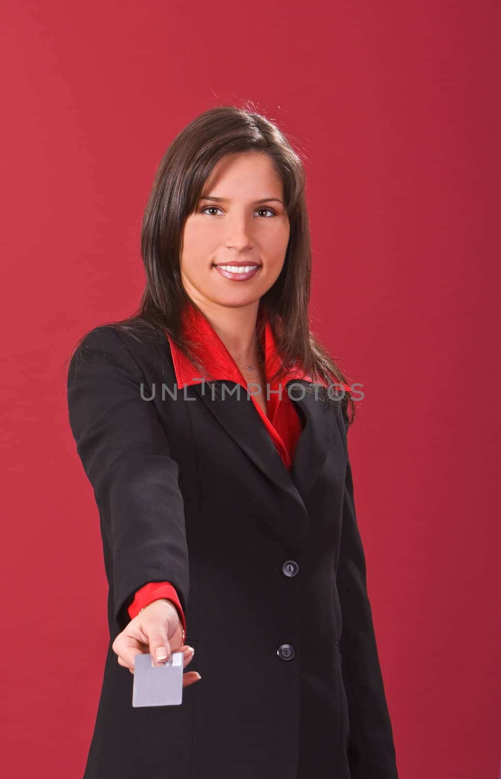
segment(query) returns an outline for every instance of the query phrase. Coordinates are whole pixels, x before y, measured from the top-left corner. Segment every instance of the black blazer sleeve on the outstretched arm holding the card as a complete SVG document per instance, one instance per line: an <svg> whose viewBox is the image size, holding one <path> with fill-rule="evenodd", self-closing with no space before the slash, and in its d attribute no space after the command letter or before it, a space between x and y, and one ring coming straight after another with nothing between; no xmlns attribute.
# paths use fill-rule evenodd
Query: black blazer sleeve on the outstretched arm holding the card
<svg viewBox="0 0 501 779"><path fill-rule="evenodd" d="M113 326L86 334L68 368L68 414L100 511L118 632L135 592L169 582L182 612L189 592L179 467L145 376ZM110 570L109 570L110 569Z"/></svg>

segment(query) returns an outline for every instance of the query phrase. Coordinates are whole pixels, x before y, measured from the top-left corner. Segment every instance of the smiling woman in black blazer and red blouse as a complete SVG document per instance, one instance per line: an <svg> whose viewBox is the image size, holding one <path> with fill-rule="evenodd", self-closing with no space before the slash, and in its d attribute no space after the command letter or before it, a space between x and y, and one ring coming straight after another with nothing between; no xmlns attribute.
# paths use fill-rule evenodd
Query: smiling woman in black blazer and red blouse
<svg viewBox="0 0 501 779"><path fill-rule="evenodd" d="M282 132L233 107L187 125L142 257L138 312L87 333L68 371L109 583L84 779L393 779L354 404L310 333L304 171ZM182 704L132 707L135 654L178 650Z"/></svg>

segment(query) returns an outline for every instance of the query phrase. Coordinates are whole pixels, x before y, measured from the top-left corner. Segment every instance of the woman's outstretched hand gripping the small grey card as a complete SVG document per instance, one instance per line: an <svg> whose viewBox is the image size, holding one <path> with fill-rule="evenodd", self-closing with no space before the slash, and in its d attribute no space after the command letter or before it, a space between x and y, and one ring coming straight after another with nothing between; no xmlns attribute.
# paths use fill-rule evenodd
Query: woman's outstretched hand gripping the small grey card
<svg viewBox="0 0 501 779"><path fill-rule="evenodd" d="M118 664L134 673L134 657L136 654L152 656L154 665L164 665L172 652L184 653L183 668L193 660L194 649L186 644L181 645L183 629L180 626L177 609L163 598L154 601L144 612L118 633L111 648L117 654ZM156 660L157 653L161 659ZM198 682L201 675L197 671L188 671L183 675L183 687Z"/></svg>

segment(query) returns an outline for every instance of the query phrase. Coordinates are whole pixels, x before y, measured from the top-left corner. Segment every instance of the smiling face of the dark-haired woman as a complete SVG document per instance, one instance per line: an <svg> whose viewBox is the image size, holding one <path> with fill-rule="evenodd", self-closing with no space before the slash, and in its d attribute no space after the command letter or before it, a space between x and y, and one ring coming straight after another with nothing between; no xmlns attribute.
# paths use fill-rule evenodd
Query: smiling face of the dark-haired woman
<svg viewBox="0 0 501 779"><path fill-rule="evenodd" d="M282 179L268 154L222 157L184 224L184 289L202 306L258 301L279 277L289 232Z"/></svg>

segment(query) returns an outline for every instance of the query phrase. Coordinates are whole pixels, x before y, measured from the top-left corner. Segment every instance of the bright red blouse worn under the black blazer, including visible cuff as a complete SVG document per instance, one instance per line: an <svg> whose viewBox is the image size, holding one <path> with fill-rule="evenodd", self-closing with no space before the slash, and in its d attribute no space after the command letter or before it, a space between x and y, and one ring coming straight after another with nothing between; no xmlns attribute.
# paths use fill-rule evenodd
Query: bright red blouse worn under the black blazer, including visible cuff
<svg viewBox="0 0 501 779"><path fill-rule="evenodd" d="M258 321L262 316L265 316L265 312L260 306ZM204 359L207 362L208 368L214 379L236 382L237 384L240 384L244 390L247 390L247 382L243 378L240 368L236 365L233 357L226 349L226 346L222 343L222 340L219 338L211 324L208 323L207 319L191 305L188 305L184 310L182 327L184 333L189 333L193 340L203 344ZM202 379L197 376L197 370L194 368L194 365L179 351L168 333L166 333L166 335L169 339L170 349L172 351L177 386L182 389L184 385L193 386L194 384L201 383ZM268 317L265 317L264 343L261 341L261 346L263 347L263 352L265 354L265 375L268 381L268 376L271 376L279 365L281 365L278 356L275 354L275 337ZM314 379L304 373L299 366L289 370L289 372L280 379L281 393L272 393L272 390L279 390L278 382L274 382L270 385L270 399L267 400L268 416L262 410L255 397L252 396L252 401L261 417L261 421L268 430L268 433L275 444L275 448L288 471L291 471L293 467L296 445L302 430L300 416L286 390L286 382L290 379L307 379L307 381L310 382L314 381ZM323 386L328 386L326 382L319 383ZM249 384L251 384L251 382L249 382ZM343 386L345 390L351 391L346 384L343 384ZM252 387L250 388L250 391L252 391ZM169 582L150 582L137 590L134 600L128 607L128 614L131 619L138 614L143 606L151 601L156 601L159 598L167 598L173 602L177 607L180 619L183 622L184 630L186 631L186 620L179 598L177 597L177 592Z"/></svg>

